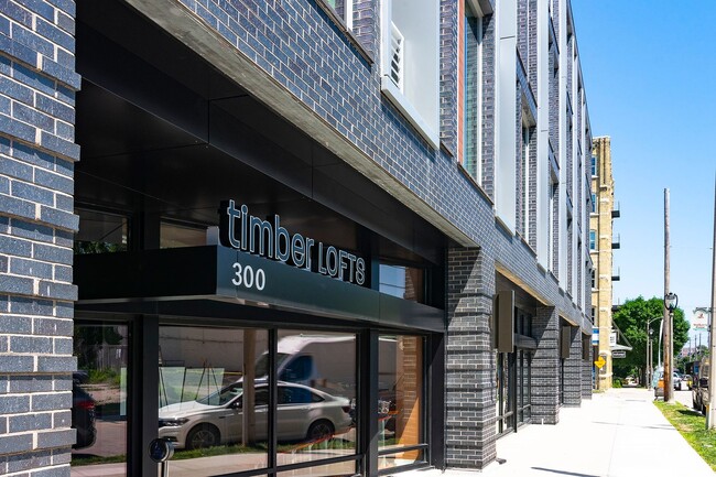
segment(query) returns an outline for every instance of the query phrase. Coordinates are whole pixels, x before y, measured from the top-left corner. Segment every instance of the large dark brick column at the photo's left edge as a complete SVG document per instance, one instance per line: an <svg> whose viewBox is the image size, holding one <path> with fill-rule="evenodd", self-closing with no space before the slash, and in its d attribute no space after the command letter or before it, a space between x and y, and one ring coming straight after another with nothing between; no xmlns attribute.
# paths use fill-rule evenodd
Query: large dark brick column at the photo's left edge
<svg viewBox="0 0 716 477"><path fill-rule="evenodd" d="M75 4L11 0L2 13L0 475L68 476Z"/></svg>

